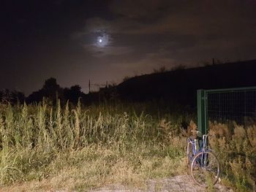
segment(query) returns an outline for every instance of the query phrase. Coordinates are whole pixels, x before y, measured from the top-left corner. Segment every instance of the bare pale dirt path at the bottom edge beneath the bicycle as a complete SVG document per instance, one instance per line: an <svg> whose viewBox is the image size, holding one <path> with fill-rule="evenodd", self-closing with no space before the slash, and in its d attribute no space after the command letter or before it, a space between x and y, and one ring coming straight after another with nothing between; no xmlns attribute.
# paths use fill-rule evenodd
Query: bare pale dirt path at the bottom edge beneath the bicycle
<svg viewBox="0 0 256 192"><path fill-rule="evenodd" d="M145 192L136 188L126 188L123 185L106 186L90 192ZM148 180L147 192L167 192L167 191L184 191L184 192L203 192L206 188L196 185L189 175L179 175L162 180ZM233 192L233 190L223 186L215 185L214 191Z"/></svg>

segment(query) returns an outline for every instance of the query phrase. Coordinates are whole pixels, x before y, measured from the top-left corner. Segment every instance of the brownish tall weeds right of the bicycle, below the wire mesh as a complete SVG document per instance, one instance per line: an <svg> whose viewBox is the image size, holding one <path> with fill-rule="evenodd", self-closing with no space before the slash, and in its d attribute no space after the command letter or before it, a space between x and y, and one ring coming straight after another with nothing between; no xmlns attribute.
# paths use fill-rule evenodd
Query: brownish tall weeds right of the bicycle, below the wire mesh
<svg viewBox="0 0 256 192"><path fill-rule="evenodd" d="M210 145L222 164L222 182L236 191L256 191L256 126L209 126Z"/></svg>

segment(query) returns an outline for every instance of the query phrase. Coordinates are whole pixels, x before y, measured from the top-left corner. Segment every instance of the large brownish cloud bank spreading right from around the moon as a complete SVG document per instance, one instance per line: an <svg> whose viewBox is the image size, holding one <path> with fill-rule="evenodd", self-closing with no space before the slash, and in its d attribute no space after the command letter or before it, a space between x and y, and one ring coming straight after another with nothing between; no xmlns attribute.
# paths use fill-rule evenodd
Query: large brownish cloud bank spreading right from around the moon
<svg viewBox="0 0 256 192"><path fill-rule="evenodd" d="M108 62L126 69L143 71L225 55L232 60L256 41L256 13L250 5L236 0L113 0L113 18L89 18L73 37L87 39L83 47L94 57L111 56ZM94 43L101 31L110 37L105 47Z"/></svg>

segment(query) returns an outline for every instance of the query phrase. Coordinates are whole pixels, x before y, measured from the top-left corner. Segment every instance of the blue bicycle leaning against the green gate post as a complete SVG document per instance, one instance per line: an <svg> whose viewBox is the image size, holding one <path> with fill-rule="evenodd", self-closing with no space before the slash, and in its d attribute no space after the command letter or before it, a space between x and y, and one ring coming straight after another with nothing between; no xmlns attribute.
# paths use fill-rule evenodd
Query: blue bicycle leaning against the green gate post
<svg viewBox="0 0 256 192"><path fill-rule="evenodd" d="M207 187L215 185L219 180L219 160L207 145L208 134L203 134L203 139L199 143L197 136L187 139L187 165L190 168L192 178L200 186Z"/></svg>

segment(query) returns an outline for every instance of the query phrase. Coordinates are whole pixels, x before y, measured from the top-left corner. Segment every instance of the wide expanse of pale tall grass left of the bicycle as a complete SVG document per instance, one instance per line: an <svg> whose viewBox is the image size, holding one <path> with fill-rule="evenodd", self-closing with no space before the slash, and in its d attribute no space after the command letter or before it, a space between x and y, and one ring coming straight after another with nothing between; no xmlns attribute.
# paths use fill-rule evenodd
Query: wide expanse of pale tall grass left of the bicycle
<svg viewBox="0 0 256 192"><path fill-rule="evenodd" d="M79 191L106 183L141 187L148 178L184 172L186 139L179 136L184 118L127 109L2 105L1 186L26 183L29 191Z"/></svg>

